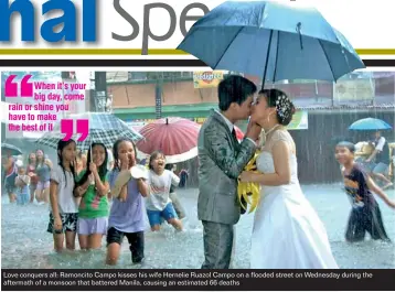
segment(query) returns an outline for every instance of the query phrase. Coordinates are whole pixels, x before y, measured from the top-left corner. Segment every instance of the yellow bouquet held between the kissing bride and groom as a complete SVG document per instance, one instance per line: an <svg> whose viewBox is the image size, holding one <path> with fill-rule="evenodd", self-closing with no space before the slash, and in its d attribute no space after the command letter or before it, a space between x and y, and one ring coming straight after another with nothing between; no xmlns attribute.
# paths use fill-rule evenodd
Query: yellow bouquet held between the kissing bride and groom
<svg viewBox="0 0 395 292"><path fill-rule="evenodd" d="M256 166L256 159L258 155L259 152L255 152L253 159L244 167L244 171L258 173ZM259 203L260 185L258 183L238 182L237 194L242 208L247 210L247 205L249 204L250 207L248 213L253 213Z"/></svg>

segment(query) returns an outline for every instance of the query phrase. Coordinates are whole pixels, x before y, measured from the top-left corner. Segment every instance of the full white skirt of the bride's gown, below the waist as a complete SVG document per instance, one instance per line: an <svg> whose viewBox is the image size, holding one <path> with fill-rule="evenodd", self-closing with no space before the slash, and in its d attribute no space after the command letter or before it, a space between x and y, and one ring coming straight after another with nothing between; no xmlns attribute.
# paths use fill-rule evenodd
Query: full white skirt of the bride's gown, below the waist
<svg viewBox="0 0 395 292"><path fill-rule="evenodd" d="M300 186L265 187L263 193L250 269L339 269L325 228Z"/></svg>

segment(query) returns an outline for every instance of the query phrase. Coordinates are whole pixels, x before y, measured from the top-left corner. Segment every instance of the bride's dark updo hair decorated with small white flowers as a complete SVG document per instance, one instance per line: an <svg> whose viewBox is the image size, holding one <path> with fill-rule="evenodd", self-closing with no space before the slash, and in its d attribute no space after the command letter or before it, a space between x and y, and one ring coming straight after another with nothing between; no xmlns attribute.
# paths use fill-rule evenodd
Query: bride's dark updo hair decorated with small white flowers
<svg viewBox="0 0 395 292"><path fill-rule="evenodd" d="M276 108L278 122L288 126L295 113L295 106L289 97L278 89L263 89L259 94L266 97L268 107Z"/></svg>

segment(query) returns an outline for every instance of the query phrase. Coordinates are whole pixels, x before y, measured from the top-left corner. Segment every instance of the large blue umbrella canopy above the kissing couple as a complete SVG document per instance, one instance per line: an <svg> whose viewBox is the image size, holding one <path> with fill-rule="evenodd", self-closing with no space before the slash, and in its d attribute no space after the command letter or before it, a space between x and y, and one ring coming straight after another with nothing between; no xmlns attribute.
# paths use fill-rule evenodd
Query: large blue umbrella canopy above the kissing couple
<svg viewBox="0 0 395 292"><path fill-rule="evenodd" d="M335 82L364 64L314 8L277 1L226 1L198 20L178 48L213 69L266 80Z"/></svg>

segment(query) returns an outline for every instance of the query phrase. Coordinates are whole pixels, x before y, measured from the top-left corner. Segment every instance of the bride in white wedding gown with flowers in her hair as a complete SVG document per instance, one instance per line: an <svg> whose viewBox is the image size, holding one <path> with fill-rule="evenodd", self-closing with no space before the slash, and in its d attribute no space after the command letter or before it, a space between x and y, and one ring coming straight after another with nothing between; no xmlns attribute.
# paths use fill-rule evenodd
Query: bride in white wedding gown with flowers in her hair
<svg viewBox="0 0 395 292"><path fill-rule="evenodd" d="M295 107L277 89L259 93L252 119L265 130L257 159L260 173L244 172L242 182L261 187L252 236L250 269L338 269L323 224L298 181L293 139L285 129Z"/></svg>

